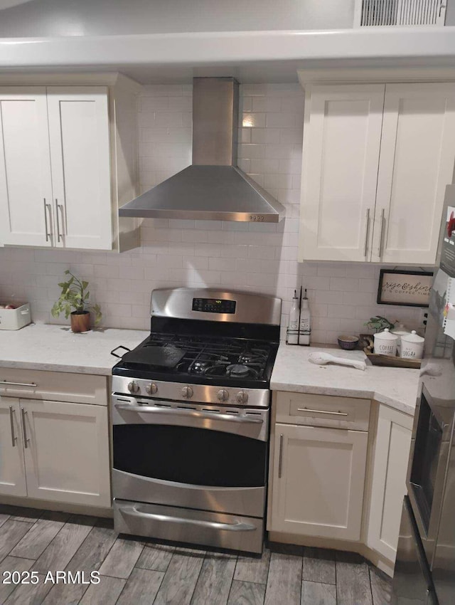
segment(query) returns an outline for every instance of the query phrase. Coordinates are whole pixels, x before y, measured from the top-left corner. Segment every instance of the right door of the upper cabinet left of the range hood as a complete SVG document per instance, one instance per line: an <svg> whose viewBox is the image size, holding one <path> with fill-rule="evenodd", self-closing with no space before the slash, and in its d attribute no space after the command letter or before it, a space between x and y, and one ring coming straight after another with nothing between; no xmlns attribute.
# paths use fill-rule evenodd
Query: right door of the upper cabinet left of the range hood
<svg viewBox="0 0 455 605"><path fill-rule="evenodd" d="M47 90L55 245L111 250L107 88Z"/></svg>

